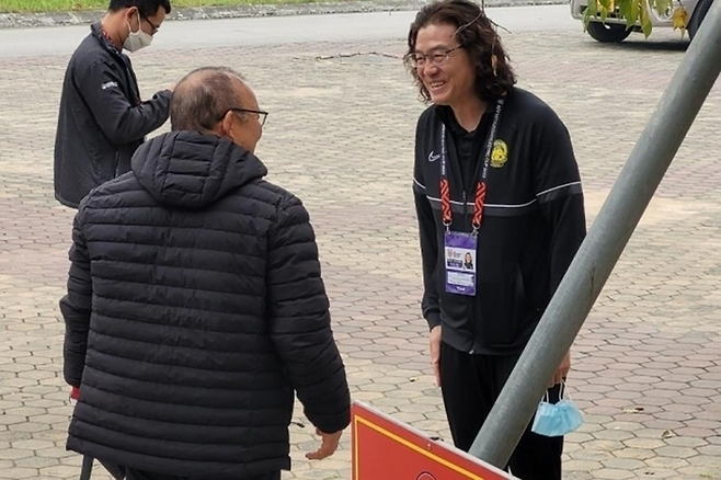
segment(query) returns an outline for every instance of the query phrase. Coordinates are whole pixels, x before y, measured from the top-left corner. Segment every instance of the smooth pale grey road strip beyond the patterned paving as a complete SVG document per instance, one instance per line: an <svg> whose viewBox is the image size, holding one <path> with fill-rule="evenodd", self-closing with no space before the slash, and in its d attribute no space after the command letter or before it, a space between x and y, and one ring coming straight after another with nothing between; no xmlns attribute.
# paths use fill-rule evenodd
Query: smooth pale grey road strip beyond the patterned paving
<svg viewBox="0 0 721 480"><path fill-rule="evenodd" d="M568 5L490 9L512 32L579 31ZM414 12L347 13L282 18L167 22L156 38L158 50L248 47L306 42L374 42L403 38ZM87 26L0 30L0 58L69 54ZM190 33L192 32L192 34Z"/></svg>

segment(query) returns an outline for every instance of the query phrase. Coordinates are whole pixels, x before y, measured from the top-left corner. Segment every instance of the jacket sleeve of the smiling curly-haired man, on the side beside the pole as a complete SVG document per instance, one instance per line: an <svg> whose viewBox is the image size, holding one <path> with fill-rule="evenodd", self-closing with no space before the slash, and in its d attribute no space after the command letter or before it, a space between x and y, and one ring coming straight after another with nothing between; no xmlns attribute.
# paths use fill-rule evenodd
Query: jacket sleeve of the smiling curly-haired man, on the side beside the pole
<svg viewBox="0 0 721 480"><path fill-rule="evenodd" d="M586 236L579 164L565 125L550 108L534 135L535 188L550 229L550 295L556 293Z"/></svg>

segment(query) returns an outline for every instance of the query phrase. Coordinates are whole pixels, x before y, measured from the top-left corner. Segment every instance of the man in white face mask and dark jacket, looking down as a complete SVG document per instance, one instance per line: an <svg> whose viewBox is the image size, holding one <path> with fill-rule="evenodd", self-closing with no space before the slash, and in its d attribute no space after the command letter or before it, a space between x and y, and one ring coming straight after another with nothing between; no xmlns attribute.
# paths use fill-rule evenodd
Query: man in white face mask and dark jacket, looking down
<svg viewBox="0 0 721 480"><path fill-rule="evenodd" d="M146 135L168 119L171 90L142 101L123 50L149 46L170 0L111 0L65 73L55 138L55 197L77 208L95 186L130 170Z"/></svg>

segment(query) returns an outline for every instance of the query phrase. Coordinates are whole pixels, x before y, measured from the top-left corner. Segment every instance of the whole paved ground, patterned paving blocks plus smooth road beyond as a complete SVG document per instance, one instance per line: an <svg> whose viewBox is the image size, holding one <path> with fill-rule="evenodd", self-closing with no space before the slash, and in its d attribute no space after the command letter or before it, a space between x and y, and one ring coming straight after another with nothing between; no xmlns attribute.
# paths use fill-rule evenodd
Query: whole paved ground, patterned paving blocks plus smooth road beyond
<svg viewBox="0 0 721 480"><path fill-rule="evenodd" d="M503 37L519 84L569 126L591 222L685 42L657 32L650 42L599 45L565 12L491 14L513 31ZM553 16L559 23L534 25ZM370 19L385 26L364 27ZM202 65L245 73L271 112L259 146L270 179L311 212L354 398L448 438L419 319L410 172L423 105L398 58L409 21L399 13L169 23L157 48L134 58L145 95ZM52 157L62 73L83 33L0 32L3 480L79 471L64 448L70 409L57 309L72 212L53 198ZM568 437L566 480L721 479L719 112L717 87L576 341L570 389L586 423ZM310 430L291 427L294 472L285 478L348 479L347 437L333 459L309 464Z"/></svg>

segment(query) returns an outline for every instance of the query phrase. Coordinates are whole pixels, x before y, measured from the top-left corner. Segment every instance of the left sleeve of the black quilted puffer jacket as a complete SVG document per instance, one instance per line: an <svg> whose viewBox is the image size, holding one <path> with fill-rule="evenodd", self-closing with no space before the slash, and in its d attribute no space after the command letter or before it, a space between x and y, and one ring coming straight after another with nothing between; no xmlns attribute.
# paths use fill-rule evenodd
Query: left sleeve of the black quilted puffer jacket
<svg viewBox="0 0 721 480"><path fill-rule="evenodd" d="M81 204L72 226L68 294L60 300L60 312L65 319L62 370L65 381L73 387L80 387L82 370L85 365L85 351L88 350L88 333L90 331L90 312L92 307L90 258L81 226L82 208Z"/></svg>

